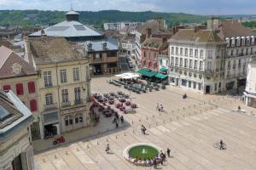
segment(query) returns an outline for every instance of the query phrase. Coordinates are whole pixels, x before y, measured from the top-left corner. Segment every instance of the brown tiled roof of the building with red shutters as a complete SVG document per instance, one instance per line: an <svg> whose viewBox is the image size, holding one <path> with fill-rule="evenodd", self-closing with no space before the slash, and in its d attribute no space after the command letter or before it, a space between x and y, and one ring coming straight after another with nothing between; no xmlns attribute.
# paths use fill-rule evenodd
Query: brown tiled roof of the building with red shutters
<svg viewBox="0 0 256 170"><path fill-rule="evenodd" d="M12 69L12 65L15 63L21 65L20 75L15 75ZM11 49L4 46L0 47L0 78L8 77L21 77L35 75L37 72L34 67L21 58L18 54L15 54Z"/></svg>

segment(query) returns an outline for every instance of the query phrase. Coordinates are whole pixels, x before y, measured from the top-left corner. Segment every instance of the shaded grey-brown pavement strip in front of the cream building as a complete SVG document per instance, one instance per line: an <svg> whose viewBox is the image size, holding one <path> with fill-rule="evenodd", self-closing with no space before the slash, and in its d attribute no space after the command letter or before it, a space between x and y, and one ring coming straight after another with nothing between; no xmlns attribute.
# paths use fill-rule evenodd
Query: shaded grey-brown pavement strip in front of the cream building
<svg viewBox="0 0 256 170"><path fill-rule="evenodd" d="M96 127L83 127L72 132L62 133L61 135L66 139L66 142L63 144L52 144L54 138L32 141L34 153L38 154L45 150L60 147L61 145L71 144L81 139L89 139L97 135L108 135L109 133L116 133L130 126L129 122L125 122L123 125L119 124L119 128L116 128L112 121L113 117L107 118L101 115L100 122L96 125Z"/></svg>

